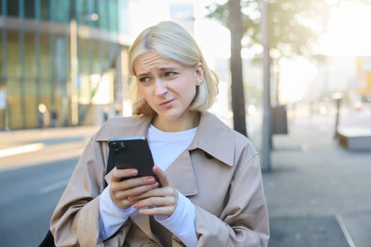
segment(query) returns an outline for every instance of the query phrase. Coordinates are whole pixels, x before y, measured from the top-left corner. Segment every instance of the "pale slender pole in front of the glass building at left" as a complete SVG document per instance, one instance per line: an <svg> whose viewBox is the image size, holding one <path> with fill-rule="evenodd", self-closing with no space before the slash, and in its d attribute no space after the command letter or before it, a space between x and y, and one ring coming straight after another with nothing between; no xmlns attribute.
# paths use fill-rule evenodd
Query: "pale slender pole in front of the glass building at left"
<svg viewBox="0 0 371 247"><path fill-rule="evenodd" d="M71 123L78 125L78 90L77 90L77 73L78 73L78 57L77 57L77 23L76 19L70 21L70 51L71 51Z"/></svg>

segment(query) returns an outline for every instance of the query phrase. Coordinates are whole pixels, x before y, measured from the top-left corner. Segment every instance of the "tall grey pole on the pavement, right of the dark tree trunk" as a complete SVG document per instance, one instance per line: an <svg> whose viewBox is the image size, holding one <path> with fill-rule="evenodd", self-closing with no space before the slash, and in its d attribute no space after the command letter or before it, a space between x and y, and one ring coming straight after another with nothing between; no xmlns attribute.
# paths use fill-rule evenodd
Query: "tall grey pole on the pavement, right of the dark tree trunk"
<svg viewBox="0 0 371 247"><path fill-rule="evenodd" d="M265 171L271 171L271 87L269 66L269 42L267 30L266 0L261 0L261 34L263 52L263 164Z"/></svg>

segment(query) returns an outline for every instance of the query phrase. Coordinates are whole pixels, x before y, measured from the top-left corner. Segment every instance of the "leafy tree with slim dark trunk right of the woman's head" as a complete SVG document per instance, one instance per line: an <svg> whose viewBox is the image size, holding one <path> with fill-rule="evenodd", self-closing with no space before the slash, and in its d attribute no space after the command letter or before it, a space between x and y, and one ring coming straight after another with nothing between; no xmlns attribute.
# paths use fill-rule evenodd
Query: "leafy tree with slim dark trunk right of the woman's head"
<svg viewBox="0 0 371 247"><path fill-rule="evenodd" d="M330 18L331 8L349 0L266 0L267 1L267 33L269 64L278 65L279 59L291 56L305 56L316 60L319 55L319 35L326 28ZM357 0L352 0L357 1ZM367 4L365 0L358 0ZM237 10L240 6L240 10ZM241 40L245 47L262 47L261 40L261 8L259 0L229 0L225 4L208 6L209 18L219 20L231 31L231 73L232 73L232 111L235 129L239 123L245 123L245 114L240 112L242 102L240 78L242 75L235 64L238 63ZM240 13L242 12L242 17ZM238 24L242 18L242 35ZM257 52L256 59L261 61L262 51ZM237 52L236 52L237 51ZM241 71L242 74L242 71Z"/></svg>

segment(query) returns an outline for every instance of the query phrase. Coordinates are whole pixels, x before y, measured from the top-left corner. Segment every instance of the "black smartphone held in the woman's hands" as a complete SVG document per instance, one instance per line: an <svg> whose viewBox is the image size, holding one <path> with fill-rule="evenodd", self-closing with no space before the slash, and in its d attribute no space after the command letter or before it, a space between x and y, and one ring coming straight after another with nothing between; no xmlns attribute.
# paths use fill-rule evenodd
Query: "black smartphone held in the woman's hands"
<svg viewBox="0 0 371 247"><path fill-rule="evenodd" d="M145 136L110 138L108 147L117 169L134 168L138 170L137 176L154 176L160 183L153 172L153 157Z"/></svg>

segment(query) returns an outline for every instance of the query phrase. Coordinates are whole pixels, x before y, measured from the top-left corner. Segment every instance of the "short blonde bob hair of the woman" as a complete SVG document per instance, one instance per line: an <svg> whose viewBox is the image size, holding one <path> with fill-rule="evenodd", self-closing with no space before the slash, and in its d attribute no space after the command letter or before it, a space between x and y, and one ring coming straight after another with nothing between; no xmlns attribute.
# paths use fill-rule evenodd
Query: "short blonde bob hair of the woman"
<svg viewBox="0 0 371 247"><path fill-rule="evenodd" d="M208 68L201 49L196 44L194 37L185 28L172 21L163 21L143 30L136 37L129 50L131 76L136 76L134 71L135 59L150 49L185 66L196 66L196 64L201 63L204 66L204 81L197 86L196 96L190 105L190 109L196 112L204 112L213 105L216 95L218 95L218 76ZM138 83L131 82L130 90L133 114L153 115L155 112L146 100L143 100Z"/></svg>

